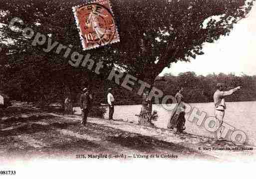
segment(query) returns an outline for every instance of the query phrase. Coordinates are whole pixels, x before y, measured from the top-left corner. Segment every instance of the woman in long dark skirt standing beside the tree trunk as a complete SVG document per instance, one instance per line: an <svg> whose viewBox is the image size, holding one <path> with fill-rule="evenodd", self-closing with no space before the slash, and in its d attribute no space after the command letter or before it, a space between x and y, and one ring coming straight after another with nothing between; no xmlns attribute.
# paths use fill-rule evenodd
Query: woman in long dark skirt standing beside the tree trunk
<svg viewBox="0 0 256 179"><path fill-rule="evenodd" d="M168 129L177 129L177 133L183 133L185 128L185 109L186 106L183 103L183 88L180 88L175 95L175 99L177 100L177 104L172 112L171 118L168 122L167 128Z"/></svg>

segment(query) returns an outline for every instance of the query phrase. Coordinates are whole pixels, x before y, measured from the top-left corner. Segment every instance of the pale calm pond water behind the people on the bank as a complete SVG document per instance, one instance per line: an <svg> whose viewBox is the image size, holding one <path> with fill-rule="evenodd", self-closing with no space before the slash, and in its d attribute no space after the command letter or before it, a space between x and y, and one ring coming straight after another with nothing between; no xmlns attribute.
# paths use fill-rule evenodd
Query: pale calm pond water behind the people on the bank
<svg viewBox="0 0 256 179"><path fill-rule="evenodd" d="M214 116L213 103L191 103L192 108L196 107L200 113L207 113L207 116ZM137 123L141 105L122 105L115 106L114 119L123 119ZM80 109L76 108L76 114L80 114ZM153 105L153 110L158 112L158 120L154 124L159 128L167 128L167 122L171 116L171 111L166 111L161 105ZM108 109L104 118L108 118ZM188 114L186 115L188 119ZM227 110L224 121L236 129L244 131L248 136L248 143L256 145L256 101L253 102L227 102ZM198 127L195 122L186 121L186 132L215 137L214 134L206 131L203 127Z"/></svg>

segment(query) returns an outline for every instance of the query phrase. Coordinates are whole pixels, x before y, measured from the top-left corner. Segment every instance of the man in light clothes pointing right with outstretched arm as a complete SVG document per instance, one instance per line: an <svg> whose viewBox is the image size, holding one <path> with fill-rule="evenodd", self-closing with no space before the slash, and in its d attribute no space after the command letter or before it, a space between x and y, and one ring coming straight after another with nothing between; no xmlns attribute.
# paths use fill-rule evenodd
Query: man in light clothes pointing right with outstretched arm
<svg viewBox="0 0 256 179"><path fill-rule="evenodd" d="M217 84L217 91L214 93L214 105L215 105L215 117L219 120L219 129L217 131L217 139L223 140L221 137L222 134L222 124L223 124L223 118L225 115L226 110L226 103L225 103L225 96L232 95L237 90L241 89L241 86L238 86L234 89L231 89L229 91L223 91L224 90L224 84L218 83Z"/></svg>

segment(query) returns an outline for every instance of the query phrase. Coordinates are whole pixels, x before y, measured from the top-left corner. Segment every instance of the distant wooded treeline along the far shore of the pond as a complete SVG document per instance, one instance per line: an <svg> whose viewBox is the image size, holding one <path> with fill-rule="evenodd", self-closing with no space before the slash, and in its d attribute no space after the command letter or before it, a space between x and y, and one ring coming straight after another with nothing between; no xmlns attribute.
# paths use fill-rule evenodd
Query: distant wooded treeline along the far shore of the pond
<svg viewBox="0 0 256 179"><path fill-rule="evenodd" d="M256 75L236 76L234 74L220 73L207 76L196 75L195 72L180 73L178 76L165 74L158 77L155 87L161 89L164 95L175 95L179 87L184 88L184 100L187 103L213 102L213 94L217 83L224 83L226 90L242 86L234 95L228 96L226 101L256 101ZM97 92L96 92L97 93ZM115 88L114 94L118 104L141 104L141 97L124 88Z"/></svg>

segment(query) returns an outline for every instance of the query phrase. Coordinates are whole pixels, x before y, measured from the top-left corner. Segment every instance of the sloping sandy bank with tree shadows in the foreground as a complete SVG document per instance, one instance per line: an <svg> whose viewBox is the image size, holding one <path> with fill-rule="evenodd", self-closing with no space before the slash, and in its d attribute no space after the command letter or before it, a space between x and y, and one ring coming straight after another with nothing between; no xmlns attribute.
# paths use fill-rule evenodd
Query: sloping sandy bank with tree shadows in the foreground
<svg viewBox="0 0 256 179"><path fill-rule="evenodd" d="M251 146L98 118L89 118L82 126L80 120L24 104L1 110L0 161L104 160L104 156L138 160L150 159L150 155L163 160L256 161Z"/></svg>

